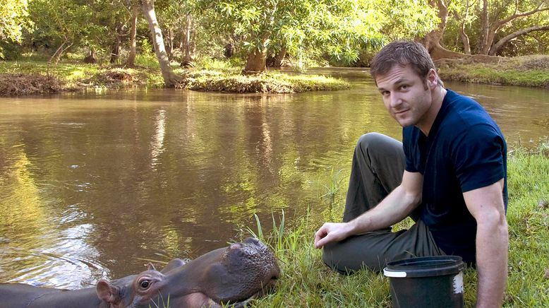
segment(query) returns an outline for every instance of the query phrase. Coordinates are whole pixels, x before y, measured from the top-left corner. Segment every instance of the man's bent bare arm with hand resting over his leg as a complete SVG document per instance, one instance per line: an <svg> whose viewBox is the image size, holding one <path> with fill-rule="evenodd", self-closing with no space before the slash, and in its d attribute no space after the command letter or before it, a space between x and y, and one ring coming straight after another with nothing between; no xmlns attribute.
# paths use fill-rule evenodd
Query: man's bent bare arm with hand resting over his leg
<svg viewBox="0 0 549 308"><path fill-rule="evenodd" d="M402 183L378 206L349 223L325 223L315 233L315 247L338 242L351 235L380 230L394 225L408 216L421 203L423 175L404 171Z"/></svg>

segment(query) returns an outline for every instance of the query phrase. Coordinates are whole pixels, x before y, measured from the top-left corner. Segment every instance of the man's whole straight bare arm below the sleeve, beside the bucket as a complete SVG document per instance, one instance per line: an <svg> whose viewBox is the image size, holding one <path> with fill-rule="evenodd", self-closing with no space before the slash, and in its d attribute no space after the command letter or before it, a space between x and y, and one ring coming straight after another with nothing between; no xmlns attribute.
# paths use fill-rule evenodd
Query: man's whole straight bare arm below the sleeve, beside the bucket
<svg viewBox="0 0 549 308"><path fill-rule="evenodd" d="M507 286L509 233L502 197L503 179L464 193L476 219L477 307L501 307Z"/></svg>

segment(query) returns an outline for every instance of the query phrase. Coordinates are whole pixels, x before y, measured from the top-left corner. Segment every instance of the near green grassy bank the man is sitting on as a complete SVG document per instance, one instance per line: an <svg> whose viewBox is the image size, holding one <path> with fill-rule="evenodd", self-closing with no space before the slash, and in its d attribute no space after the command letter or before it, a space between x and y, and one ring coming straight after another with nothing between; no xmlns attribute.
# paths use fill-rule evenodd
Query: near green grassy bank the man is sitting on
<svg viewBox="0 0 549 308"><path fill-rule="evenodd" d="M549 144L538 150L541 153L509 152L506 307L549 307ZM336 201L335 211L325 211L320 219L339 220L343 202ZM277 251L282 275L275 292L255 301L253 306L390 307L389 283L381 273L361 271L342 276L320 261L321 251L313 248L313 234L321 223L312 215L306 215L287 230L284 223L279 223L270 235L265 235ZM409 224L406 220L397 227ZM464 275L464 301L465 307L473 307L476 301L476 271L471 268Z"/></svg>

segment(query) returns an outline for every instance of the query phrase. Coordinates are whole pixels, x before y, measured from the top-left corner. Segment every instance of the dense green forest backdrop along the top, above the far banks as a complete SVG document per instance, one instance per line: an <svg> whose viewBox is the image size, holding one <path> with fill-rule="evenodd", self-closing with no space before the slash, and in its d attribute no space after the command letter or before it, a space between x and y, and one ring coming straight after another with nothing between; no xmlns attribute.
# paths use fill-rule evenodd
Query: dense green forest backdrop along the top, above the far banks
<svg viewBox="0 0 549 308"><path fill-rule="evenodd" d="M0 58L68 54L95 63L231 59L265 66L367 66L394 39L435 59L548 54L547 0L1 0ZM164 76L166 79L166 76Z"/></svg>

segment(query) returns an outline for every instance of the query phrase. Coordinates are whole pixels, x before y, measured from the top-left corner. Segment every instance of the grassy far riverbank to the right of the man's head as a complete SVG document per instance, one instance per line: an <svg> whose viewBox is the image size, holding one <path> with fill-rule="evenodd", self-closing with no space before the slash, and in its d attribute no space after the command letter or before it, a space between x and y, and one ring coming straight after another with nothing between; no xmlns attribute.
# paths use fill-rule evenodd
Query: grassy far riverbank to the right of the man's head
<svg viewBox="0 0 549 308"><path fill-rule="evenodd" d="M549 56L502 58L492 63L436 63L443 81L549 88Z"/></svg>

